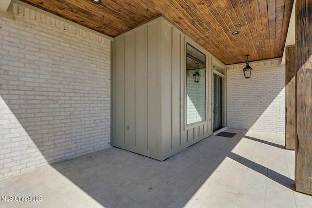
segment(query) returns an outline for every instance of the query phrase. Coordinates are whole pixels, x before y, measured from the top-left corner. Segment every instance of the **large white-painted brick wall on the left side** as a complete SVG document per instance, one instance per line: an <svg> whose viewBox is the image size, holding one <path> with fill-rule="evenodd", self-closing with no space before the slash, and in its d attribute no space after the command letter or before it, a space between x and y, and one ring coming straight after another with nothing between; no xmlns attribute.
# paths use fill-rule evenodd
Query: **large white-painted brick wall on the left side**
<svg viewBox="0 0 312 208"><path fill-rule="evenodd" d="M0 41L0 178L110 147L110 40L14 4Z"/></svg>

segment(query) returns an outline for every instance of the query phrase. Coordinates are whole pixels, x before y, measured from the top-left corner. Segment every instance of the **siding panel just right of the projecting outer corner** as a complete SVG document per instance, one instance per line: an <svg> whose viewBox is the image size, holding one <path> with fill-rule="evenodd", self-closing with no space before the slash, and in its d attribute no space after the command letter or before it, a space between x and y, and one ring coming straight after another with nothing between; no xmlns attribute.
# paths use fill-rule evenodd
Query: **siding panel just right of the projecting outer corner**
<svg viewBox="0 0 312 208"><path fill-rule="evenodd" d="M162 24L162 140L163 152L172 149L172 29L166 22Z"/></svg>

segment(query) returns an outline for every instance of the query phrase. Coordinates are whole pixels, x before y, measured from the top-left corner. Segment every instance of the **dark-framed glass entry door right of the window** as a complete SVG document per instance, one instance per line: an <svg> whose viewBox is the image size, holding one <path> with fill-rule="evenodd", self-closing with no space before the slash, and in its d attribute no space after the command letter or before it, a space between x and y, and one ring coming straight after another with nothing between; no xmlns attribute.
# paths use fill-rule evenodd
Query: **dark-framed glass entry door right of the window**
<svg viewBox="0 0 312 208"><path fill-rule="evenodd" d="M214 131L222 127L222 78L214 74L213 78L213 124Z"/></svg>

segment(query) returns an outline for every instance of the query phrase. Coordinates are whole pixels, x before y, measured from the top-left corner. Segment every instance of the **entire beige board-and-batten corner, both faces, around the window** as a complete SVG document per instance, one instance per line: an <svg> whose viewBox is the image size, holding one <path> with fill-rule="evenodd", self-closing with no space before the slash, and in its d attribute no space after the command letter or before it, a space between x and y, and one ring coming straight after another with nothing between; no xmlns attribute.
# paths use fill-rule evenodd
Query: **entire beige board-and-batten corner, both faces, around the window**
<svg viewBox="0 0 312 208"><path fill-rule="evenodd" d="M167 20L154 19L114 38L113 146L164 160L212 134L210 106L205 121L186 126L186 42L207 56L208 108L212 56Z"/></svg>

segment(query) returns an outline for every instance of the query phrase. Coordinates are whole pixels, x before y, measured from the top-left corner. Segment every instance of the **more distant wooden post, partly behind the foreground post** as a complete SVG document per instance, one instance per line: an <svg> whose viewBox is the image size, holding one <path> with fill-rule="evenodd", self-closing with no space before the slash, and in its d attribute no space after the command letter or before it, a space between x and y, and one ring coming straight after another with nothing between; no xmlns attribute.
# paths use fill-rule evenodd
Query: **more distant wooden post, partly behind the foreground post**
<svg viewBox="0 0 312 208"><path fill-rule="evenodd" d="M286 116L285 116L285 148L294 150L296 143L296 105L295 105L295 75L296 75L296 47L286 46Z"/></svg>

